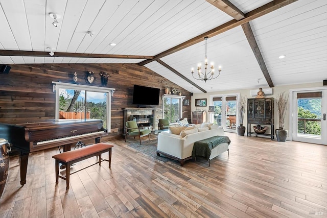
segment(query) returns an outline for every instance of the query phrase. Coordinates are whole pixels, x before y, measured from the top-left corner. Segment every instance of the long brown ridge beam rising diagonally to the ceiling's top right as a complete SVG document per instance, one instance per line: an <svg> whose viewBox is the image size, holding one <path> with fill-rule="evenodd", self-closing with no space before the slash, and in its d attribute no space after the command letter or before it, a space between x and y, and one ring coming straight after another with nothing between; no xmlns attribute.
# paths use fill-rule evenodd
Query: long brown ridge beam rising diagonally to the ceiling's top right
<svg viewBox="0 0 327 218"><path fill-rule="evenodd" d="M216 36L218 34L221 34L223 32L226 32L227 30L230 30L230 29L233 29L235 27L238 27L244 23L247 23L255 18L258 18L258 17L261 17L265 14L268 14L272 11L275 11L279 8L282 8L286 5L289 5L291 3L294 3L296 2L297 0L274 0L266 5L263 5L257 9L254 9L248 13L245 14L245 18L244 19L241 19L241 20L236 20L236 19L233 19L233 20L230 20L226 23L224 23L223 25L219 26L219 27L216 27L212 30L209 30L199 36L196 36L188 41L185 41L179 45L176 45L174 47L172 47L171 49L169 50L166 50L164 52L161 52L160 54L157 54L154 56L153 59L148 59L148 60L144 60L142 62L139 62L138 65L140 66L143 66L145 64L148 64L152 61L156 61L158 60L159 58L162 58L162 57L165 57L165 56L168 56L170 54L173 54L175 52L178 52L180 50L183 50L185 49L186 47L189 47L191 45L194 45L196 43L199 43L201 41L203 41L203 38L205 36L208 36L208 37L213 37L213 36Z"/></svg>

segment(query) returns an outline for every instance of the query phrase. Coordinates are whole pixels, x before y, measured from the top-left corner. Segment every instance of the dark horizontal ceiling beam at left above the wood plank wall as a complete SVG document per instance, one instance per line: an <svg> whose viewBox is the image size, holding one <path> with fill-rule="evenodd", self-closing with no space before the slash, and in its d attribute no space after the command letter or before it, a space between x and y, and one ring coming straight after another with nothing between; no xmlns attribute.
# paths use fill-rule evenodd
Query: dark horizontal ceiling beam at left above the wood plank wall
<svg viewBox="0 0 327 218"><path fill-rule="evenodd" d="M108 55L108 54L85 54L85 53L65 53L54 52L53 56L49 52L0 50L0 56L32 56L32 57L67 57L67 58L120 58L120 59L152 59L153 56L144 55Z"/></svg>

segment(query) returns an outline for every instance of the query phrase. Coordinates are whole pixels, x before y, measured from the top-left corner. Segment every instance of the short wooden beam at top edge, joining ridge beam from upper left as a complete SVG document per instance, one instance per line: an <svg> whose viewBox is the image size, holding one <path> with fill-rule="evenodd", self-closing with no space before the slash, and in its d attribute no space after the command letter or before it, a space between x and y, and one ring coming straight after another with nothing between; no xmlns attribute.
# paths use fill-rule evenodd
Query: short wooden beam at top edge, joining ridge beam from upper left
<svg viewBox="0 0 327 218"><path fill-rule="evenodd" d="M245 18L244 13L240 9L238 9L235 5L231 4L228 0L206 0L206 1L236 20L241 20Z"/></svg>

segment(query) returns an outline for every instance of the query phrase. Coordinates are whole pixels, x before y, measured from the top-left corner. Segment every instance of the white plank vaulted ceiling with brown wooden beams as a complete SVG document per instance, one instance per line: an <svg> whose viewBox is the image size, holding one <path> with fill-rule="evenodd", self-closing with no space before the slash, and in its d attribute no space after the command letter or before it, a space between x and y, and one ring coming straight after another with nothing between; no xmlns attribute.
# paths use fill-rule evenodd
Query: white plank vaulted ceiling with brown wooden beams
<svg viewBox="0 0 327 218"><path fill-rule="evenodd" d="M326 0L0 0L0 23L0 64L135 63L194 93L327 79Z"/></svg>

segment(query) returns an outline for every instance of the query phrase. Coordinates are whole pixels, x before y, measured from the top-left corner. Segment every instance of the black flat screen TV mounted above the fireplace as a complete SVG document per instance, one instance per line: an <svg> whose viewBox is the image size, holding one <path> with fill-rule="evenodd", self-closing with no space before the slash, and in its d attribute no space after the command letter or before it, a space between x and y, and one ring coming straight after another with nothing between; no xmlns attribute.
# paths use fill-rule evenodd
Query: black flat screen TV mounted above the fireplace
<svg viewBox="0 0 327 218"><path fill-rule="evenodd" d="M160 89L134 85L133 105L159 105Z"/></svg>

